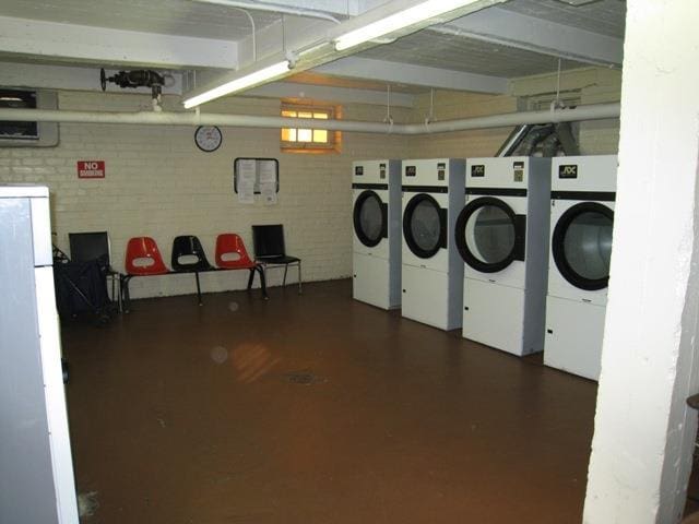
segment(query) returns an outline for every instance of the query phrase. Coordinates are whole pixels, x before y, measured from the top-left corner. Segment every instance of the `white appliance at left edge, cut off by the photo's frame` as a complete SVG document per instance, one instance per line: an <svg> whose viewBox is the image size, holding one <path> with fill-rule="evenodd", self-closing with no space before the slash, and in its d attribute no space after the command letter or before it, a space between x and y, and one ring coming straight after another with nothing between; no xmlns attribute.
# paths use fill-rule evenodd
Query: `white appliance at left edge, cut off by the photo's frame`
<svg viewBox="0 0 699 524"><path fill-rule="evenodd" d="M0 522L75 524L48 188L0 186Z"/></svg>

